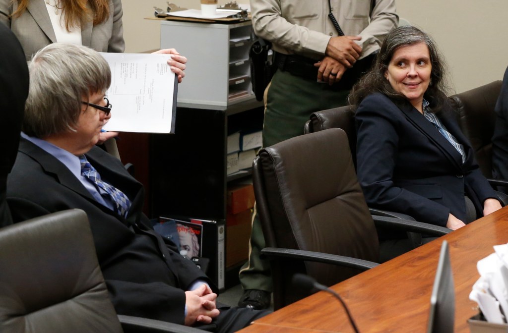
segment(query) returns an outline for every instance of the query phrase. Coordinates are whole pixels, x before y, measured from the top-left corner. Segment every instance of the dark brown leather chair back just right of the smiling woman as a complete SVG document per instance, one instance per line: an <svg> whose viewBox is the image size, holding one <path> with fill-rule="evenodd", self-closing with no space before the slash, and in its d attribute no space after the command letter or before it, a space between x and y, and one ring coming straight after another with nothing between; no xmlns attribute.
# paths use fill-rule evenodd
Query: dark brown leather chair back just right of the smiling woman
<svg viewBox="0 0 508 333"><path fill-rule="evenodd" d="M451 96L457 104L460 129L469 139L480 170L487 178L492 178L494 107L501 84L502 81L498 80Z"/></svg>

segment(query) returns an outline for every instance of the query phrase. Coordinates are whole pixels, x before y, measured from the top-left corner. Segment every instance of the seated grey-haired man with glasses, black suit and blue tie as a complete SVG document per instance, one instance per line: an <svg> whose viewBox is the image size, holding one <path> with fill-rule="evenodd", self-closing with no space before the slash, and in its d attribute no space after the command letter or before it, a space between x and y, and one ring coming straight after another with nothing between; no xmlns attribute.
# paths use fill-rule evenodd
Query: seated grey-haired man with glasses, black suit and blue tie
<svg viewBox="0 0 508 333"><path fill-rule="evenodd" d="M153 231L142 213L142 185L96 147L111 117L106 60L87 47L56 43L37 52L28 68L22 138L7 185L14 222L84 210L118 314L218 332L262 316L215 302L217 289L206 275Z"/></svg>

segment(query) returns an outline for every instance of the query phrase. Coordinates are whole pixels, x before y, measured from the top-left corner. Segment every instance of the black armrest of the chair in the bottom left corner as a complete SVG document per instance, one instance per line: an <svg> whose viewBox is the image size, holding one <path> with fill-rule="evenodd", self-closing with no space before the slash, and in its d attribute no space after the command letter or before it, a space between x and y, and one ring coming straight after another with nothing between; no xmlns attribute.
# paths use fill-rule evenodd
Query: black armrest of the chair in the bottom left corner
<svg viewBox="0 0 508 333"><path fill-rule="evenodd" d="M118 315L124 333L204 333L204 330L162 320Z"/></svg>

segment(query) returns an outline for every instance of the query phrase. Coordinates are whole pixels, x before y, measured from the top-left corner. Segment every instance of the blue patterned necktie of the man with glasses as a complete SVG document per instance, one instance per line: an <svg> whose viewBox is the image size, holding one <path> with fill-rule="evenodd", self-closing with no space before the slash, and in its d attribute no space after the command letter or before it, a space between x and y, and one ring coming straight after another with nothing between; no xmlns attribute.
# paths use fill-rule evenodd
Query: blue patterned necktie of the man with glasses
<svg viewBox="0 0 508 333"><path fill-rule="evenodd" d="M79 156L79 161L81 162L81 175L88 179L93 185L95 185L99 193L101 193L101 189L106 192L101 193L101 195L107 196L109 199L111 199L114 206L116 207L116 212L119 215L127 215L127 212L131 207L131 201L129 198L116 187L101 180L101 175L99 175L97 170L92 167L90 162L88 162L85 155Z"/></svg>

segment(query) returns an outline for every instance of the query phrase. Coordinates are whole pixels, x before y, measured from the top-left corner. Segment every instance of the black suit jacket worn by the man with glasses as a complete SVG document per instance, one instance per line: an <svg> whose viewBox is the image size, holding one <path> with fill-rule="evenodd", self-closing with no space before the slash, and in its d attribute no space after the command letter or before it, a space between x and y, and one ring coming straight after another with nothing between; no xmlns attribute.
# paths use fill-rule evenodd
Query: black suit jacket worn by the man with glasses
<svg viewBox="0 0 508 333"><path fill-rule="evenodd" d="M183 324L184 290L198 278L210 281L194 263L168 249L148 226L141 212L143 187L121 162L97 147L86 157L102 179L131 199L126 218L96 202L55 157L21 139L7 185L14 221L70 208L84 210L116 311Z"/></svg>

